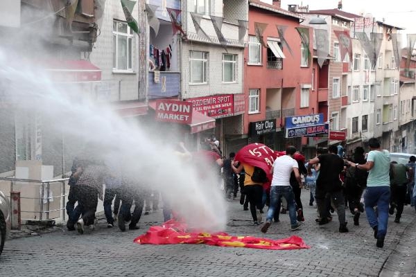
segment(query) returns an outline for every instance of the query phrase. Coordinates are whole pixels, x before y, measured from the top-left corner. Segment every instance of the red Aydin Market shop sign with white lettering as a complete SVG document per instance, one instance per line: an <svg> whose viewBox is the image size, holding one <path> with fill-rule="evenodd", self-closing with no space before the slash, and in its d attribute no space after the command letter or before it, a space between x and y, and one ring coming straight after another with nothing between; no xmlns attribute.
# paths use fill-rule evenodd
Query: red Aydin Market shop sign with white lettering
<svg viewBox="0 0 416 277"><path fill-rule="evenodd" d="M177 100L156 100L156 120L189 124L192 120L192 105Z"/></svg>

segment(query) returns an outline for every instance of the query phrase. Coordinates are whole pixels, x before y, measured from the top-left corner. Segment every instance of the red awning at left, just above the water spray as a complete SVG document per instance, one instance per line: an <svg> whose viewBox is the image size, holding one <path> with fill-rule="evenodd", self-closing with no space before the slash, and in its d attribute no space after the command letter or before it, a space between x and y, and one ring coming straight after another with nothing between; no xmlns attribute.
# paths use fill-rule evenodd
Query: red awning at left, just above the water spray
<svg viewBox="0 0 416 277"><path fill-rule="evenodd" d="M87 60L46 60L40 64L54 82L101 80L101 69Z"/></svg>

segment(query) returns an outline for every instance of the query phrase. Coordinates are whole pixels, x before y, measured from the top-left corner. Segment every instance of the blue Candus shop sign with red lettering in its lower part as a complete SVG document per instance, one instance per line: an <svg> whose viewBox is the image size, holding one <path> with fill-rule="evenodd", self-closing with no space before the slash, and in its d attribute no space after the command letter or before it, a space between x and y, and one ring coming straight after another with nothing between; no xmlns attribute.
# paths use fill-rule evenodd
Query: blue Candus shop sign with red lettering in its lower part
<svg viewBox="0 0 416 277"><path fill-rule="evenodd" d="M324 114L288 116L285 122L286 138L325 133Z"/></svg>

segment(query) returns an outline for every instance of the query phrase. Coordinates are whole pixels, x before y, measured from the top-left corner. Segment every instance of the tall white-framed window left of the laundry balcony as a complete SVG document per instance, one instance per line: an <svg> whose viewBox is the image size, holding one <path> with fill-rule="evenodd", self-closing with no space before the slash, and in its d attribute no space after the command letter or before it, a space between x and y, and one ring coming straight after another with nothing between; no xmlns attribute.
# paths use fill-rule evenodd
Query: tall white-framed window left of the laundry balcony
<svg viewBox="0 0 416 277"><path fill-rule="evenodd" d="M113 69L133 71L133 30L125 22L113 21Z"/></svg>

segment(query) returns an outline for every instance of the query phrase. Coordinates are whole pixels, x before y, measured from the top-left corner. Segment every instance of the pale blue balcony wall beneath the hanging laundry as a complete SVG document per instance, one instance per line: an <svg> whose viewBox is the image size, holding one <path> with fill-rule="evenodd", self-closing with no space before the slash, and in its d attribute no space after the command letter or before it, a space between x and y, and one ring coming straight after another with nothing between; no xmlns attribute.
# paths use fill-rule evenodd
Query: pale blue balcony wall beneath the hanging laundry
<svg viewBox="0 0 416 277"><path fill-rule="evenodd" d="M157 72L159 72L159 76ZM149 99L178 96L180 91L180 72L149 71L148 83Z"/></svg>

